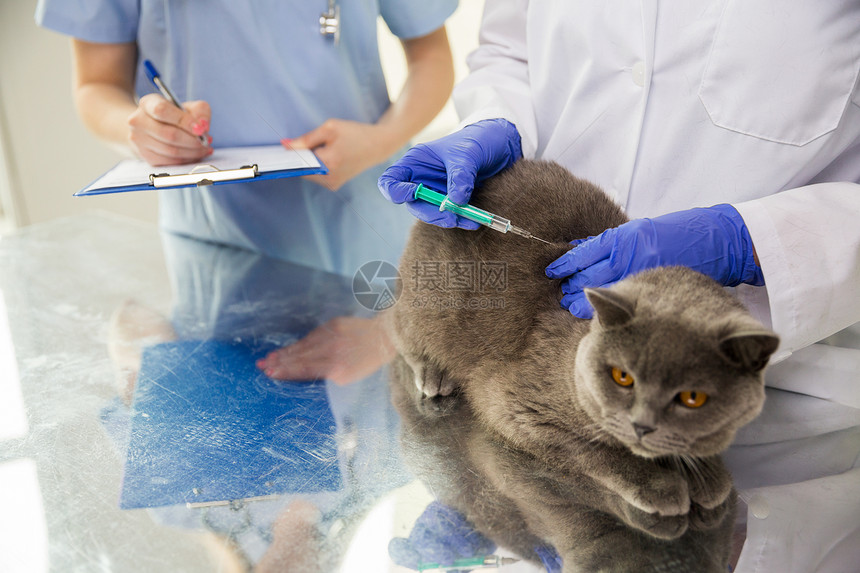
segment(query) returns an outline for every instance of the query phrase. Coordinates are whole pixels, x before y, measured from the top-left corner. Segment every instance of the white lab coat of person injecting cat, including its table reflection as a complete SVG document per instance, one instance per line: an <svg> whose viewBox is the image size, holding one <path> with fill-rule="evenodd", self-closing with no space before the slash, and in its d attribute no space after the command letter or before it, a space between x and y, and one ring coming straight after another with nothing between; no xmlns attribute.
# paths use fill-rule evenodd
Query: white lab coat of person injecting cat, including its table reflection
<svg viewBox="0 0 860 573"><path fill-rule="evenodd" d="M727 460L749 505L736 571L860 571L860 1L490 0L464 124L504 117L526 157L631 217L731 203L782 343Z"/></svg>

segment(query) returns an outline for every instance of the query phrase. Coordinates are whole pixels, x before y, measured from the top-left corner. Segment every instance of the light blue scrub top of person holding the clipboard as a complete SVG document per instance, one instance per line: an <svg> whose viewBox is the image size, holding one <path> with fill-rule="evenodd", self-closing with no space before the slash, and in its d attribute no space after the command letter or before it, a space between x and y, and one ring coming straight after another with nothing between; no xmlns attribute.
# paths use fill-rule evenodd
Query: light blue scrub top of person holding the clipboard
<svg viewBox="0 0 860 573"><path fill-rule="evenodd" d="M328 118L375 122L389 105L376 26L401 38L444 24L457 0L339 0L340 44L319 33L328 0L40 0L37 22L89 42L137 42L181 101L212 107L218 146L274 144ZM138 96L156 91L138 66ZM304 179L160 191L164 228L352 276L396 263L413 218L369 169L331 192Z"/></svg>

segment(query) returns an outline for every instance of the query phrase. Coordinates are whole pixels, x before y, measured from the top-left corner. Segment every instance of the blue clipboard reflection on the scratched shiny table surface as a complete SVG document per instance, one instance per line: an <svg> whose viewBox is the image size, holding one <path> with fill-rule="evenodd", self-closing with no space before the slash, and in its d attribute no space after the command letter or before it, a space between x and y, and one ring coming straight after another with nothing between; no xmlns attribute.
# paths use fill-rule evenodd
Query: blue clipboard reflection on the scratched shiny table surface
<svg viewBox="0 0 860 573"><path fill-rule="evenodd" d="M275 382L269 347L184 340L144 350L123 509L342 489L323 382Z"/></svg>

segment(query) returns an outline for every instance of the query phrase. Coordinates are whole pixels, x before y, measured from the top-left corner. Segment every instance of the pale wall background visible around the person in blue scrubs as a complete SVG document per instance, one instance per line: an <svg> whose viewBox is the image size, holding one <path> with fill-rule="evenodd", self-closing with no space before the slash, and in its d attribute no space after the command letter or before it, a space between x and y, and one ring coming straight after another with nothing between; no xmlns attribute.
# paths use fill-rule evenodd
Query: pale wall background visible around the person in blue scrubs
<svg viewBox="0 0 860 573"><path fill-rule="evenodd" d="M460 0L448 21L457 78L477 46L484 0ZM123 193L75 198L122 157L83 127L72 103L70 41L38 28L36 0L0 0L0 234L93 209L144 221L156 220L156 196ZM390 89L403 83L405 64L398 41L380 26L383 66ZM457 124L449 103L419 135L432 139Z"/></svg>

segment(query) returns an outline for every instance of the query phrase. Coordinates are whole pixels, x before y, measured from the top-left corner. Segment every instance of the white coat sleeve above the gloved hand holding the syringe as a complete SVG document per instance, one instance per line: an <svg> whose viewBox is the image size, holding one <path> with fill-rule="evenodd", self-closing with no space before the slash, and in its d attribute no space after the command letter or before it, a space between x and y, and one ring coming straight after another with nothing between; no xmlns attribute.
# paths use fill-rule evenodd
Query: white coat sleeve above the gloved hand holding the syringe
<svg viewBox="0 0 860 573"><path fill-rule="evenodd" d="M537 126L529 84L526 21L528 0L484 5L478 48L469 55L469 76L454 88L463 125L501 117L517 126L523 154L534 157Z"/></svg>

